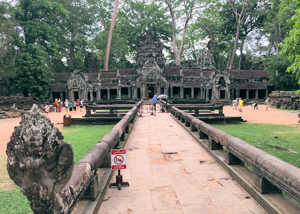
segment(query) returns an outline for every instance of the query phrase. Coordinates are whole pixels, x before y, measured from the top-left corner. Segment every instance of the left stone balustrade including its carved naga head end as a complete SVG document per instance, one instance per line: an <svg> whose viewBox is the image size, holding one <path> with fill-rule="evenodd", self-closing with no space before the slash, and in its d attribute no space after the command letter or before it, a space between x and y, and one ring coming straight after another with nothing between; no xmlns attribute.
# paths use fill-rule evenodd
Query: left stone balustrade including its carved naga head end
<svg viewBox="0 0 300 214"><path fill-rule="evenodd" d="M141 104L134 105L76 166L70 144L33 104L15 127L6 154L8 174L34 213L70 213L80 196L88 195L87 188L93 195L86 198L96 198L97 170L108 166L111 149L123 147Z"/></svg>

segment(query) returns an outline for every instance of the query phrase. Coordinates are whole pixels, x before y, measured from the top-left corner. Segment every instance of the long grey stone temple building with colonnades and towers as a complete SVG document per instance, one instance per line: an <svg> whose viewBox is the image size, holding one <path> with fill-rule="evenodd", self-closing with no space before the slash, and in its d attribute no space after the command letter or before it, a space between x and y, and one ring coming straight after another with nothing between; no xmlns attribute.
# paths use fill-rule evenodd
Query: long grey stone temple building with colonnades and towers
<svg viewBox="0 0 300 214"><path fill-rule="evenodd" d="M265 99L273 88L268 71L216 70L210 51L195 68L165 66L160 40L151 32L139 39L135 59L134 68L117 71L55 73L50 100L146 99L156 93L186 100Z"/></svg>

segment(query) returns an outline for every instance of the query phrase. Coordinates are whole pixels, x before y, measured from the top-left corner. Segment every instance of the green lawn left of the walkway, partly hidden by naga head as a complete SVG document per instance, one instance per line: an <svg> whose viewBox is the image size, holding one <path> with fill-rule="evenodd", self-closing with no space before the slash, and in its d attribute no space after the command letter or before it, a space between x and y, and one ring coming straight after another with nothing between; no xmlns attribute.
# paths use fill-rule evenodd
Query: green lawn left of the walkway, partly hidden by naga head
<svg viewBox="0 0 300 214"><path fill-rule="evenodd" d="M74 151L75 164L88 152L114 125L73 125L62 127L64 142L69 141ZM0 156L0 213L32 213L27 197L20 193L8 177L6 157ZM8 190L10 189L10 190Z"/></svg>

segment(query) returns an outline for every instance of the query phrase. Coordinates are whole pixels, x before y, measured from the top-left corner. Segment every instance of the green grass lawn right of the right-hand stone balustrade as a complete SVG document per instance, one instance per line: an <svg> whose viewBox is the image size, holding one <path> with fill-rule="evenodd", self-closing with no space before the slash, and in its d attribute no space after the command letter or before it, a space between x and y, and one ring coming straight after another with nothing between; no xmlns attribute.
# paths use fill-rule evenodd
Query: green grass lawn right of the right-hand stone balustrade
<svg viewBox="0 0 300 214"><path fill-rule="evenodd" d="M214 127L300 168L300 124L245 122Z"/></svg>

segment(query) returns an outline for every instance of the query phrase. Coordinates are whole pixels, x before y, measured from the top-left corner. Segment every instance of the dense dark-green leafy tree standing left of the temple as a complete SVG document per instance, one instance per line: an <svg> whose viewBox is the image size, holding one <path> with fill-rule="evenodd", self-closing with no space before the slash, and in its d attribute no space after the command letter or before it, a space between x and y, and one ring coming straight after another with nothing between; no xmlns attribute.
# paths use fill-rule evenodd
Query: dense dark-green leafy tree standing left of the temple
<svg viewBox="0 0 300 214"><path fill-rule="evenodd" d="M60 4L46 0L21 0L16 6L14 18L21 31L14 37L18 49L14 84L24 96L48 95L52 73L46 57L54 55L57 43L53 25L64 15Z"/></svg>

